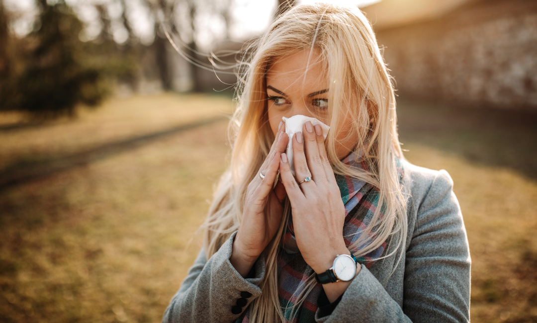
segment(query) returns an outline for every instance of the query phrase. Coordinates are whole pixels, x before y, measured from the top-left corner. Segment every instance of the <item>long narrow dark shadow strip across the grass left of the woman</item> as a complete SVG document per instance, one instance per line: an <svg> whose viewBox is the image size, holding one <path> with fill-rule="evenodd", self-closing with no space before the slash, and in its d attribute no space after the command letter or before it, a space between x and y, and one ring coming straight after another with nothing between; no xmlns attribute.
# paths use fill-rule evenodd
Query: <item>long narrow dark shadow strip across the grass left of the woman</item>
<svg viewBox="0 0 537 323"><path fill-rule="evenodd" d="M175 135L182 131L224 120L223 117L208 118L166 130L157 131L142 136L128 138L117 142L106 143L97 148L79 151L67 156L60 156L46 160L18 160L16 163L0 171L0 192L20 183L47 177L75 167L85 166L97 160L117 155L138 148L142 145L160 140L166 136Z"/></svg>

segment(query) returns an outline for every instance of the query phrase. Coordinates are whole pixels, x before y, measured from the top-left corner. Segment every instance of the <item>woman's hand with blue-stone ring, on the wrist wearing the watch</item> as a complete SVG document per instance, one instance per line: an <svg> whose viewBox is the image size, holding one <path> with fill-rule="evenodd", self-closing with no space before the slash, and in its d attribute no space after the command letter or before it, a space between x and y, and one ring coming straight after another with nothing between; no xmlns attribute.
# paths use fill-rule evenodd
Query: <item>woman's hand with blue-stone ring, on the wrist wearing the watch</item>
<svg viewBox="0 0 537 323"><path fill-rule="evenodd" d="M338 254L350 254L343 239L345 205L326 156L321 127L314 128L308 121L302 133L296 133L292 140L298 182L293 178L285 153L281 155L280 176L291 201L296 244L304 261L320 274L332 267ZM307 177L311 180L303 181ZM333 302L349 284L331 283L323 288Z"/></svg>

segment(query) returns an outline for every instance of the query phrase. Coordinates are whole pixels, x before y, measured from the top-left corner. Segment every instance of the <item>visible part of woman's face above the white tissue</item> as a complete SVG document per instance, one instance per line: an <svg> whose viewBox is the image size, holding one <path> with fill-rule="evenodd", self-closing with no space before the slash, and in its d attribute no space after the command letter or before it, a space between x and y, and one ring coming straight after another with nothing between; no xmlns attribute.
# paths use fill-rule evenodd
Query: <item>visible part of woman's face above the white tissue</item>
<svg viewBox="0 0 537 323"><path fill-rule="evenodd" d="M330 82L319 53L314 50L309 65L309 50L281 57L269 66L266 75L267 97L269 98L269 123L274 135L282 117L291 118L301 114L317 118L329 124L328 90ZM307 70L307 72L306 72ZM346 119L343 129L350 129ZM357 136L342 131L337 137L336 153L343 159L356 145Z"/></svg>

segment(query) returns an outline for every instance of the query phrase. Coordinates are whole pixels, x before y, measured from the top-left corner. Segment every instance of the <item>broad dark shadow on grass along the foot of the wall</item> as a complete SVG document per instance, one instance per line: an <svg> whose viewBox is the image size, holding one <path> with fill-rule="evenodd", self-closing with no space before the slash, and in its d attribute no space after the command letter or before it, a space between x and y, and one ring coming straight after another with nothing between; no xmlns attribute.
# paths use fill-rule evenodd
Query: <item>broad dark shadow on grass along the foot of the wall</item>
<svg viewBox="0 0 537 323"><path fill-rule="evenodd" d="M537 179L537 113L398 101L400 141ZM403 145L403 149L405 146Z"/></svg>

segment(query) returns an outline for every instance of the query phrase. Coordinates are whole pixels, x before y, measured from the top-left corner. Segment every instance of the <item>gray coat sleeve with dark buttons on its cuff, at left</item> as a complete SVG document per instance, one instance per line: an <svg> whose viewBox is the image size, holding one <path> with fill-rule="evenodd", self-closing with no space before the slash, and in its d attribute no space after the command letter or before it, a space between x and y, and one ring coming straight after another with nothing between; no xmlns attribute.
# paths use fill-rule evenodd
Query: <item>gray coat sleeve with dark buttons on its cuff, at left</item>
<svg viewBox="0 0 537 323"><path fill-rule="evenodd" d="M229 261L235 235L236 232L231 234L209 260L201 249L164 312L162 322L233 322L261 295L258 285L265 276L265 258L261 255L256 261L255 277L243 278ZM233 314L231 309L237 307L237 299L248 294L251 296L245 298L246 304L238 306L241 312Z"/></svg>

